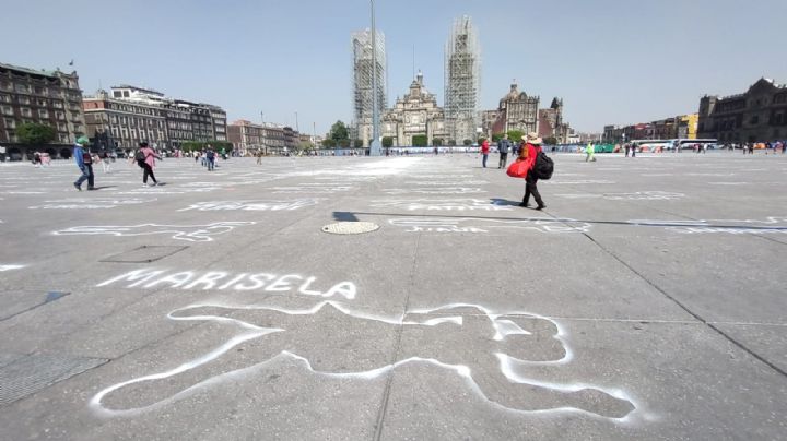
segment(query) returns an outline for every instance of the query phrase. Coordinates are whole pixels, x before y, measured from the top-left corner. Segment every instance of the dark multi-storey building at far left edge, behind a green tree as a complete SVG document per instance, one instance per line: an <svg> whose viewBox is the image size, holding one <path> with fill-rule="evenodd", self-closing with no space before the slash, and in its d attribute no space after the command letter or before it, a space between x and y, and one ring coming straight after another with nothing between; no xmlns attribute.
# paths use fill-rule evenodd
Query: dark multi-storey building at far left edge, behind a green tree
<svg viewBox="0 0 787 441"><path fill-rule="evenodd" d="M24 122L54 128L54 142L61 144L83 135L82 91L77 72L36 71L0 63L0 142L20 142L16 129Z"/></svg>

